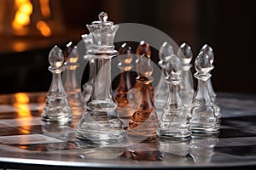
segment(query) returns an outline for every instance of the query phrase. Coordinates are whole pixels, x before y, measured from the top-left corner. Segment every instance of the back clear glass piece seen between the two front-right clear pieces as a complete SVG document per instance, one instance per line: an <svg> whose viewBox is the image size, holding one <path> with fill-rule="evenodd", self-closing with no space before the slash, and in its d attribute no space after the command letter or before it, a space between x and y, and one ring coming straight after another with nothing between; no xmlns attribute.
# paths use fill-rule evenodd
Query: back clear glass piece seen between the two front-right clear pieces
<svg viewBox="0 0 256 170"><path fill-rule="evenodd" d="M181 59L183 65L183 81L180 84L180 96L183 101L187 117L189 118L191 115L192 99L195 90L193 88L192 73L190 71L190 68L192 67L190 62L193 58L193 53L187 43L180 45L180 48L177 50L177 57Z"/></svg>

